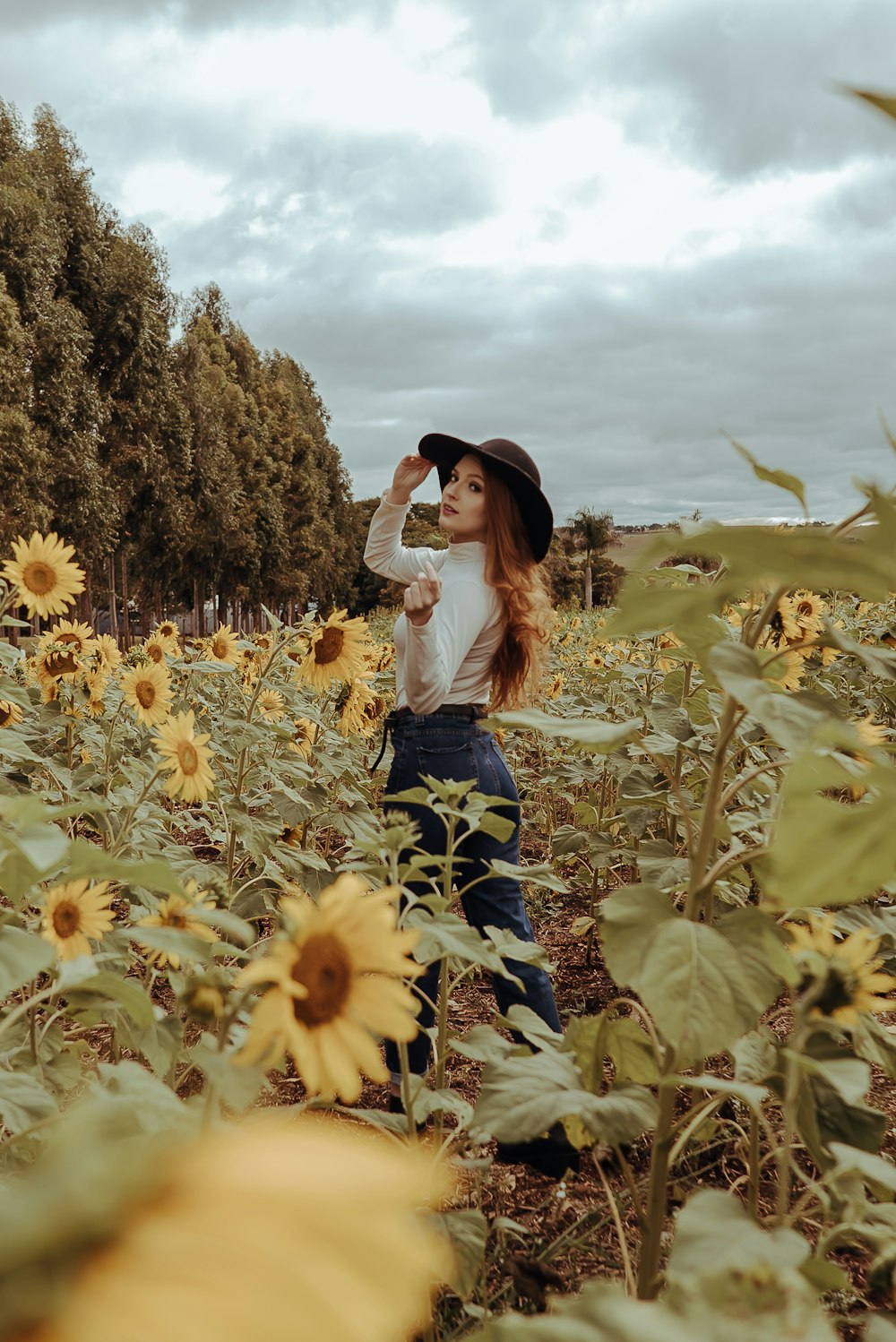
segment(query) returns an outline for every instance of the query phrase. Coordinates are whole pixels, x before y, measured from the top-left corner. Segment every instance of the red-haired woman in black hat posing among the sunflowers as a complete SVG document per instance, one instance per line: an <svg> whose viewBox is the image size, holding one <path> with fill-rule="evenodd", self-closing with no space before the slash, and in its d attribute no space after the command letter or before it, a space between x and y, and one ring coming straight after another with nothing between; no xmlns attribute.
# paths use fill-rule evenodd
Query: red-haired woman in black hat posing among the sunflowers
<svg viewBox="0 0 896 1342"><path fill-rule="evenodd" d="M447 550L401 546L410 495L433 466L441 483L440 527ZM475 781L478 790L504 797L499 813L514 832L499 841L483 831L464 839L459 884L478 880L461 896L467 921L480 931L502 927L520 941L535 939L519 882L487 875L494 859L519 864L519 796L491 731L479 726L486 705L494 711L527 698L538 684L547 648L551 607L539 564L553 534L551 509L533 459L507 439L472 444L427 433L418 455L402 456L392 487L370 522L365 562L374 573L406 584L404 615L396 621L396 711L390 715L393 761L386 793L420 784L421 774ZM406 807L421 829L424 851L445 851L441 820L423 807ZM412 886L424 894L428 886ZM519 980L495 976L499 1009L515 1002L537 1012L559 1032L547 974L519 961L507 966ZM421 1032L409 1045L410 1070L423 1074L431 1043L439 965L417 980L423 996ZM392 1074L390 1107L400 1111L400 1064L386 1044ZM547 1173L575 1165L575 1151L561 1133L523 1146L500 1146L499 1159L524 1159Z"/></svg>

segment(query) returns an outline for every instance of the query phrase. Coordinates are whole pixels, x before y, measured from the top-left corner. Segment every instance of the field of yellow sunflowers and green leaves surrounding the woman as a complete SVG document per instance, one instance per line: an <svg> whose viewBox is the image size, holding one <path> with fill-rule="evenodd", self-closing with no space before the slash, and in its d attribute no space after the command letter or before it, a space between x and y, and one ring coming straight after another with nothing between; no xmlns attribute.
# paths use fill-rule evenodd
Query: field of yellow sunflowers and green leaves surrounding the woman
<svg viewBox="0 0 896 1342"><path fill-rule="evenodd" d="M492 719L538 946L457 911L494 798L382 815L394 612L122 652L0 556L0 1338L896 1338L896 493L672 544Z"/></svg>

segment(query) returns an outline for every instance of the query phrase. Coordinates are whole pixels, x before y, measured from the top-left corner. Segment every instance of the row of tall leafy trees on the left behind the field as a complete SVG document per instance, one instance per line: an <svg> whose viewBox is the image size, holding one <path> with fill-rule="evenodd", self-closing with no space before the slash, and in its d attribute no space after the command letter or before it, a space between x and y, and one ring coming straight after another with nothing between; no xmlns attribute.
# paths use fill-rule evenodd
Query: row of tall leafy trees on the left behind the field
<svg viewBox="0 0 896 1342"><path fill-rule="evenodd" d="M55 530L83 612L350 599L350 480L309 372L260 353L215 285L181 303L48 107L0 103L0 549Z"/></svg>

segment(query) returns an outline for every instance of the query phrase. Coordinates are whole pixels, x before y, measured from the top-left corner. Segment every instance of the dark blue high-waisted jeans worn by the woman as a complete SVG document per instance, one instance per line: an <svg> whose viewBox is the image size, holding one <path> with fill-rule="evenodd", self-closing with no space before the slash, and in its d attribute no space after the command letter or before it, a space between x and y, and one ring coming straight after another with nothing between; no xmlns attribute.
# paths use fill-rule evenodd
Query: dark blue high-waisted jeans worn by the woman
<svg viewBox="0 0 896 1342"><path fill-rule="evenodd" d="M498 808L499 816L514 821L514 832L504 843L482 831L472 835L467 832L468 836L457 848L457 856L465 859L457 867L459 886L463 887L482 876L486 872L486 863L494 858L514 866L519 864L519 794L507 761L491 731L486 731L476 722L468 722L463 717L443 714L408 717L396 723L392 745L394 756L386 781L386 793L416 788L420 785L420 776L429 774L433 778L451 778L455 782L475 778L476 790L491 797L506 797L511 803L511 805ZM445 827L432 811L400 801L386 803L384 811L409 812L410 817L420 825L420 847L433 856L444 855ZM463 827L460 827L460 832L465 832ZM408 888L417 895L432 892L432 886L427 882L409 883ZM480 931L487 926L506 927L520 941L535 941L519 882L512 876L488 876L469 894L463 895L461 903L467 922ZM510 972L520 980L522 988L510 978L495 974L492 986L499 1011L506 1015L515 1002L519 1002L541 1016L551 1029L559 1032L561 1023L557 1015L554 990L545 970L516 960L508 960L506 964ZM417 1017L420 1033L408 1045L408 1053L410 1071L421 1074L429 1066L432 1045L424 1031L429 1029L435 1021L431 1002L436 1001L439 993L439 961L429 965L427 972L416 980L414 986L425 996L421 997L423 1005ZM390 1040L386 1040L386 1066L393 1075L401 1070L398 1049Z"/></svg>

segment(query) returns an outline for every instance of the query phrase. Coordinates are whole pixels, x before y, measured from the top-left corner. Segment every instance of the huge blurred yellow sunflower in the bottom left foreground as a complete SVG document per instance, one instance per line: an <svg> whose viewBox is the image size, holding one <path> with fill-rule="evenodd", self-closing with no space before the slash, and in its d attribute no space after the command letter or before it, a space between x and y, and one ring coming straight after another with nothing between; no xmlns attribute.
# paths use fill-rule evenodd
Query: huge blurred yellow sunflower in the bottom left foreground
<svg viewBox="0 0 896 1342"><path fill-rule="evenodd" d="M451 1253L421 1215L448 1194L423 1153L264 1115L156 1159L153 1196L131 1198L30 1342L398 1342L425 1329Z"/></svg>

